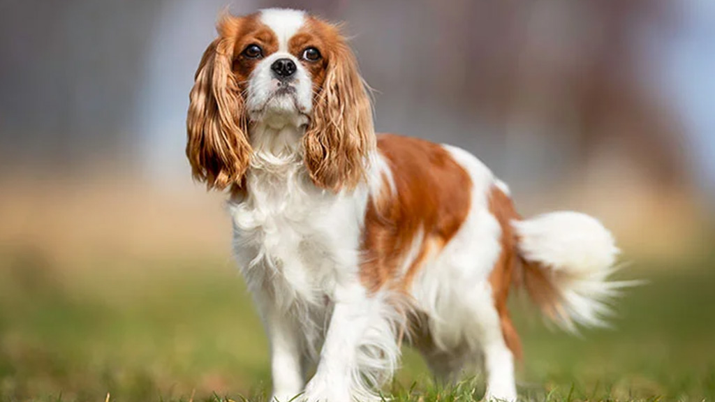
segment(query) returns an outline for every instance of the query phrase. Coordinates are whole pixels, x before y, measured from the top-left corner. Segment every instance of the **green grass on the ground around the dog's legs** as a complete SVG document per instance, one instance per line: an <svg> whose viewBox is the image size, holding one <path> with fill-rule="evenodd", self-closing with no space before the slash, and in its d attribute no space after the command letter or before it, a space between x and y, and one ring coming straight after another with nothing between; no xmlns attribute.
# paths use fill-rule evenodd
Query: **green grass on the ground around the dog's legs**
<svg viewBox="0 0 715 402"><path fill-rule="evenodd" d="M229 260L107 260L57 268L34 253L0 258L0 401L265 398L265 336ZM621 300L615 329L581 337L548 330L514 303L526 350L521 396L715 400L713 262L631 269L626 276L650 284ZM395 401L470 401L483 386L439 390L405 350L385 392Z"/></svg>

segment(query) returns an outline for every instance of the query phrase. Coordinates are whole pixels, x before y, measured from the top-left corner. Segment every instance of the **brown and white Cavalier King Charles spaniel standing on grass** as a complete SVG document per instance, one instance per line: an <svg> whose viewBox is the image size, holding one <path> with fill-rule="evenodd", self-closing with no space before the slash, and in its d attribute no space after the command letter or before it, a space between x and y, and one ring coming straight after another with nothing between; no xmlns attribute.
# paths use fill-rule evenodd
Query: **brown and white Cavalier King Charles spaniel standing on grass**
<svg viewBox="0 0 715 402"><path fill-rule="evenodd" d="M223 16L190 94L187 157L227 190L233 251L270 343L272 400L379 401L413 345L435 378L515 401L511 288L567 330L601 325L618 249L578 212L524 219L469 152L376 135L338 26ZM317 365L306 378L310 365Z"/></svg>

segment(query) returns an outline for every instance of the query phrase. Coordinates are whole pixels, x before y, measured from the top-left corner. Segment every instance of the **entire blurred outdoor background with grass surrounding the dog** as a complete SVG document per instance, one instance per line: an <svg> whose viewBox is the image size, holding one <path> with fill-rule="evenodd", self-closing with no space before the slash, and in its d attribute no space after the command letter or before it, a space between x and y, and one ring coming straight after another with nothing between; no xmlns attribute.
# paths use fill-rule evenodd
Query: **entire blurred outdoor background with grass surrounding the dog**
<svg viewBox="0 0 715 402"><path fill-rule="evenodd" d="M710 0L1 0L0 396L267 387L223 197L184 157L217 14L266 6L347 22L378 131L468 149L524 215L599 217L651 280L622 333L525 313L523 387L715 397Z"/></svg>

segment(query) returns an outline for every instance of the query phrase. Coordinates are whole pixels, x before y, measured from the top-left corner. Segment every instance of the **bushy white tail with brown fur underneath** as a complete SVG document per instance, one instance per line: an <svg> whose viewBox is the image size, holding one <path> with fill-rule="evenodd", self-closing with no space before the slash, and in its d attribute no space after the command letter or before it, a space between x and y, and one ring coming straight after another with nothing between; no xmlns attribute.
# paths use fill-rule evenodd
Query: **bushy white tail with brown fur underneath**
<svg viewBox="0 0 715 402"><path fill-rule="evenodd" d="M513 222L521 278L531 298L562 328L604 326L608 300L631 282L609 281L619 250L601 222L579 212L551 212Z"/></svg>

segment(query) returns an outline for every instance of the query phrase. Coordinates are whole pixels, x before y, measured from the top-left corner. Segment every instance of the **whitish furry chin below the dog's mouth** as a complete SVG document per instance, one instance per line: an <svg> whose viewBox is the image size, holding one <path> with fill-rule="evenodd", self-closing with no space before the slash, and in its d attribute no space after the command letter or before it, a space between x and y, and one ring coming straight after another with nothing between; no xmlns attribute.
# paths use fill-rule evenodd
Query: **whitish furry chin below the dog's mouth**
<svg viewBox="0 0 715 402"><path fill-rule="evenodd" d="M281 128L286 125L300 127L308 122L305 109L298 104L295 91L279 89L260 109L252 111L250 117L252 122L264 123L269 127Z"/></svg>

